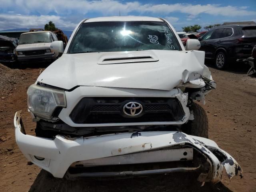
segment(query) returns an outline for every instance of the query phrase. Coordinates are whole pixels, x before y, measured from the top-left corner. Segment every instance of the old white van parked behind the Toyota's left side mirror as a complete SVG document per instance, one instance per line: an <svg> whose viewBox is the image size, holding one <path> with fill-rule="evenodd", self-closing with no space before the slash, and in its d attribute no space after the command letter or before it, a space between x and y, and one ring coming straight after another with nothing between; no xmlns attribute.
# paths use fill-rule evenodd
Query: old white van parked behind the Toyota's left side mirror
<svg viewBox="0 0 256 192"><path fill-rule="evenodd" d="M20 35L20 41L16 47L16 55L19 62L52 62L58 58L59 53L50 48L52 42L58 41L54 32L36 31Z"/></svg>

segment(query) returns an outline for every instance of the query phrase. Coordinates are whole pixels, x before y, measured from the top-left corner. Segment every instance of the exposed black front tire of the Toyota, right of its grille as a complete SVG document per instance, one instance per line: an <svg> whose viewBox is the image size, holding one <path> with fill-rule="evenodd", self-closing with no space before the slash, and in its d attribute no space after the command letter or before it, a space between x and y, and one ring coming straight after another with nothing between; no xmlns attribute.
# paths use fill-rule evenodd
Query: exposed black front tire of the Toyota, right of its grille
<svg viewBox="0 0 256 192"><path fill-rule="evenodd" d="M193 113L194 120L188 120L182 131L189 135L208 138L208 118L205 110L197 103L192 103L190 112Z"/></svg>

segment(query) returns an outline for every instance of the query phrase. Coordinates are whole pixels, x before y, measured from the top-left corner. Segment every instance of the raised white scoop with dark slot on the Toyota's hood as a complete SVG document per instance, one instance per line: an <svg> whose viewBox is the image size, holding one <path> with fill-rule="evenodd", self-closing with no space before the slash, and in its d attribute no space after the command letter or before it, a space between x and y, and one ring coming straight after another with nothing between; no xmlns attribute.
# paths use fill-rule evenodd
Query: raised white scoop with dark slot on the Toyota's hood
<svg viewBox="0 0 256 192"><path fill-rule="evenodd" d="M150 52L150 51L148 51ZM98 64L121 64L121 63L138 63L138 62L156 62L158 57L153 53L138 54L135 52L121 52L116 54L103 54Z"/></svg>

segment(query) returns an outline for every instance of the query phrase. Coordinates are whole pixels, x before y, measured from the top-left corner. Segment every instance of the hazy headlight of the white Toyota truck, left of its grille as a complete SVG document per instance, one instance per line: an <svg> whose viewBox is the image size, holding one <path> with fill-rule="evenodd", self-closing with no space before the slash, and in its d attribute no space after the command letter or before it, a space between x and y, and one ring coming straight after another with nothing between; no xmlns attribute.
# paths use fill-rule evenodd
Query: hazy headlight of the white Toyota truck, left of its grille
<svg viewBox="0 0 256 192"><path fill-rule="evenodd" d="M56 121L58 118L52 117L57 107L66 107L66 96L62 90L45 88L38 85L31 85L28 88L28 109L44 120Z"/></svg>

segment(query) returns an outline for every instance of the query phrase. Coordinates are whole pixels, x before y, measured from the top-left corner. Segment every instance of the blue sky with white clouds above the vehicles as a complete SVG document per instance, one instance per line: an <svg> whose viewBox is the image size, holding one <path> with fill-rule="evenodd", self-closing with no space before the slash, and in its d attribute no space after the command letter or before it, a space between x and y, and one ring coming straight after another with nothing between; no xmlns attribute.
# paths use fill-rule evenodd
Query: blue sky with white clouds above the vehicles
<svg viewBox="0 0 256 192"><path fill-rule="evenodd" d="M166 18L176 30L182 26L231 21L255 21L256 0L0 0L0 30L44 27L73 30L84 18L98 16Z"/></svg>

